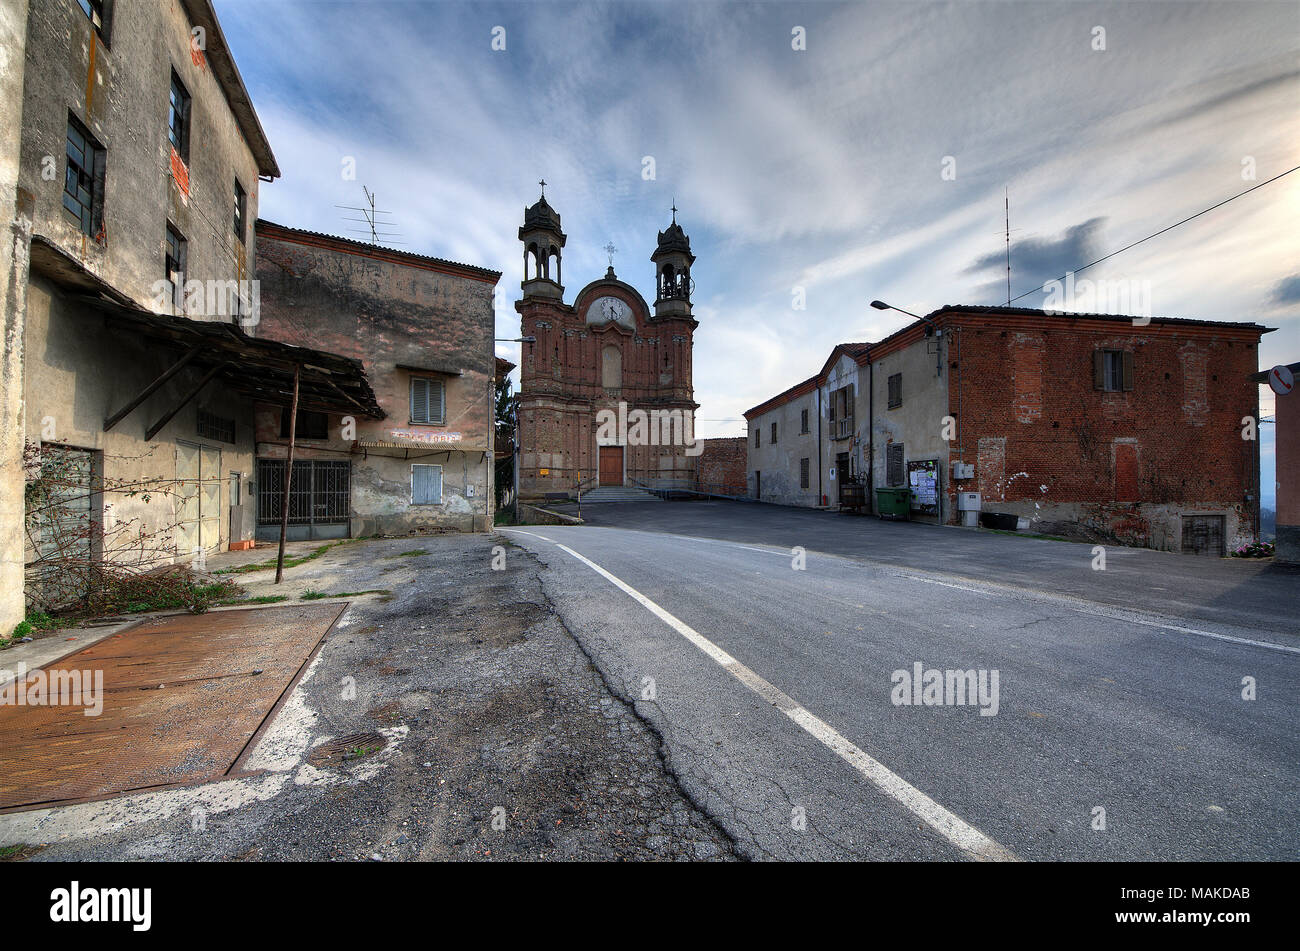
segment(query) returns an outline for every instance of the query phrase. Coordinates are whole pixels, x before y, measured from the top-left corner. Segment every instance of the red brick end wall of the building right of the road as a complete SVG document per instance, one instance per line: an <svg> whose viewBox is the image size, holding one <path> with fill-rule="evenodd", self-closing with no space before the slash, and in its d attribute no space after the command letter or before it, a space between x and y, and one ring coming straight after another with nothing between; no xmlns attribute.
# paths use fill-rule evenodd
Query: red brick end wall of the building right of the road
<svg viewBox="0 0 1300 951"><path fill-rule="evenodd" d="M1130 503L1235 511L1253 527L1257 444L1242 439L1242 417L1257 411L1253 331L982 314L948 323L961 326L948 349L952 447L976 463L976 485L949 482L950 498L978 488L985 509L1080 503L1102 521L1122 514L1134 543L1149 526L1122 512ZM1093 388L1098 348L1132 352L1131 391Z"/></svg>

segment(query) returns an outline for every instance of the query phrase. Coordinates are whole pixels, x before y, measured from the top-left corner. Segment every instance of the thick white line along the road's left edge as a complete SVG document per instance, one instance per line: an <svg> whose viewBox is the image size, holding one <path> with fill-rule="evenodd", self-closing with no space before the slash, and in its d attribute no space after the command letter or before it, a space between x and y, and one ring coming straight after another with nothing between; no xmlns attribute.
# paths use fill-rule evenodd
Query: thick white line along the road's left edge
<svg viewBox="0 0 1300 951"><path fill-rule="evenodd" d="M538 535L532 531L520 531L519 529L502 529L502 531L519 531L521 535L532 535L533 538L540 538L543 542L550 542L560 551L581 561L616 589L641 604L651 615L681 634L681 637L686 638L686 640L718 661L736 679L780 709L785 713L785 716L803 728L803 730L811 737L831 750L831 752L857 769L871 785L898 804L904 805L914 816L916 816L916 818L926 822L926 825L948 839L953 846L966 852L970 857L979 861L1019 861L1019 857L1014 852L1004 848L979 829L945 809L901 776L893 773L888 767L868 756L855 744L845 739L844 735L841 735L824 720L820 720L806 708L797 704L790 696L777 690L770 682L741 664L689 624L673 617L634 587L614 574L610 574L610 572L601 568L601 565L595 564L584 555L580 555L568 546L546 538L546 535Z"/></svg>

